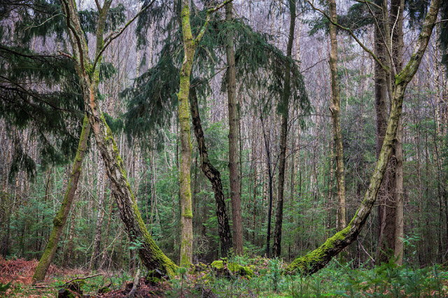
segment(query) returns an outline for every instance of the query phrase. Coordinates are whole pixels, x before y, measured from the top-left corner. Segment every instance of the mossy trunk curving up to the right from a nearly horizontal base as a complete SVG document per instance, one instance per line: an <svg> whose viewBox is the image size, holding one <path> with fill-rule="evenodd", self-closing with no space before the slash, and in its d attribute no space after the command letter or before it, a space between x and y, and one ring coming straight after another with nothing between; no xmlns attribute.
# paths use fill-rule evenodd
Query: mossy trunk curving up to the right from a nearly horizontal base
<svg viewBox="0 0 448 298"><path fill-rule="evenodd" d="M316 250L311 251L303 257L298 257L289 266L290 271L302 271L304 274L313 274L319 269L325 267L328 262L337 255L341 250L349 246L350 243L356 240L358 234L365 224L374 202L377 199L381 180L384 178L384 173L388 165L388 159L391 156L395 134L397 132L398 123L402 113L403 97L407 84L414 77L419 68L423 53L428 46L428 42L437 19L437 13L440 7L441 0L433 0L430 4L428 14L423 23L423 29L419 35L414 53L405 68L395 76L395 87L392 98L391 114L386 129L386 136L384 137L383 146L379 153L377 166L375 166L372 178L370 179L369 187L365 193L363 202L360 204L358 211L356 211L351 222L345 229L337 232L330 239Z"/></svg>

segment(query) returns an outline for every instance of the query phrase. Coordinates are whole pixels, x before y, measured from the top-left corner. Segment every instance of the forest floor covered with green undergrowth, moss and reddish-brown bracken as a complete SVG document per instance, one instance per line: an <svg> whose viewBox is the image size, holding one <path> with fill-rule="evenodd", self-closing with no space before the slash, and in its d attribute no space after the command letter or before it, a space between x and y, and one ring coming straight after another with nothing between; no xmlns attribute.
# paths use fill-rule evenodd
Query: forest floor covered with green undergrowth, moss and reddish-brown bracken
<svg viewBox="0 0 448 298"><path fill-rule="evenodd" d="M264 258L235 260L250 271L210 265L180 269L167 280L141 274L135 297L448 297L448 270L383 264L351 269L337 261L313 276L285 275L286 264ZM51 266L45 281L32 283L36 260L0 258L0 297L128 297L134 277L124 271L92 272ZM244 275L244 272L249 275ZM145 276L146 275L146 276ZM64 292L65 289L65 292ZM66 296L64 296L64 293Z"/></svg>

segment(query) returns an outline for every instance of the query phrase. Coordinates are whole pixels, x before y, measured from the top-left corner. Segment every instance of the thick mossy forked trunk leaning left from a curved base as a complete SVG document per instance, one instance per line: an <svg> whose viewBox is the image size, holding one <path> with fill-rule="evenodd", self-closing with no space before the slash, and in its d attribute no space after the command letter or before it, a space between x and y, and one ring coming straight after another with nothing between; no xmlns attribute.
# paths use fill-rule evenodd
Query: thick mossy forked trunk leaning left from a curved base
<svg viewBox="0 0 448 298"><path fill-rule="evenodd" d="M174 274L176 265L158 248L141 219L134 194L132 194L130 184L127 181L123 160L119 155L111 129L109 129L99 108L97 97L99 65L101 64L101 55L104 50L103 34L105 20L111 1L106 0L103 7L98 7L99 20L94 63L91 63L88 59L87 42L80 27L76 3L73 0L62 0L61 2L66 15L67 27L69 28L73 59L76 62L76 72L80 78L80 86L83 90L88 120L101 152L106 173L111 182L111 190L116 198L120 218L125 224L131 241L139 244L139 256L144 266L148 269L158 269L162 274Z"/></svg>

